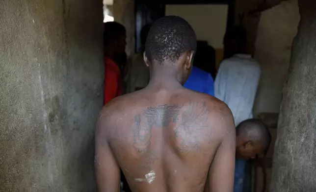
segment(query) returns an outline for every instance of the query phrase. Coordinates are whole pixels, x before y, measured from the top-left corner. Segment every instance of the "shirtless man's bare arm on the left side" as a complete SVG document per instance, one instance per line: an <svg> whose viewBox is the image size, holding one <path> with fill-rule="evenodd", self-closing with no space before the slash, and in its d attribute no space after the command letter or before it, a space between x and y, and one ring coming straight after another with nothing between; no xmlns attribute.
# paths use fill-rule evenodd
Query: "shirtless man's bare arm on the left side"
<svg viewBox="0 0 316 192"><path fill-rule="evenodd" d="M98 192L120 192L120 168L106 141L103 123L98 123L96 132L95 168Z"/></svg>

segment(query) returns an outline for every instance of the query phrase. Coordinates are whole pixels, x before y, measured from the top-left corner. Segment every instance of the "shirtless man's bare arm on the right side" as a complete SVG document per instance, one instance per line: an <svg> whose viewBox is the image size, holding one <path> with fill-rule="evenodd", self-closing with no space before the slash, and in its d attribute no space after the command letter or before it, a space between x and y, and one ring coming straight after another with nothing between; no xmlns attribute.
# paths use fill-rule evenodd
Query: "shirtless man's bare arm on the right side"
<svg viewBox="0 0 316 192"><path fill-rule="evenodd" d="M209 170L208 192L233 192L234 189L236 128L229 108L225 106L223 112L222 119L218 120L222 139Z"/></svg>

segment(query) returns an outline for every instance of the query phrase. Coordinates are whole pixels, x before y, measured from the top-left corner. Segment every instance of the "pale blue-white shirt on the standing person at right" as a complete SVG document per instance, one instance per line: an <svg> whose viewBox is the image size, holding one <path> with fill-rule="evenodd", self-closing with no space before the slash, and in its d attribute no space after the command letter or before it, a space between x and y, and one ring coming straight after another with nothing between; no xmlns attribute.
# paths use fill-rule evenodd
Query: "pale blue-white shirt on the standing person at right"
<svg viewBox="0 0 316 192"><path fill-rule="evenodd" d="M246 54L236 54L220 65L214 83L215 97L229 106L236 125L253 118L260 72L258 62Z"/></svg>

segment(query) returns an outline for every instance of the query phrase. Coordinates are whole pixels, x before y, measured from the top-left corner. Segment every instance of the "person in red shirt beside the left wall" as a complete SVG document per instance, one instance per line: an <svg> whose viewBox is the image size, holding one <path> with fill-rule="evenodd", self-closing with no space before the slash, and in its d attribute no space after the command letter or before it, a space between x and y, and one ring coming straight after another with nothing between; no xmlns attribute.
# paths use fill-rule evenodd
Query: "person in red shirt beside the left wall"
<svg viewBox="0 0 316 192"><path fill-rule="evenodd" d="M105 55L105 98L104 104L121 95L121 69L115 62L117 55L125 52L126 29L117 22L104 24L104 55Z"/></svg>

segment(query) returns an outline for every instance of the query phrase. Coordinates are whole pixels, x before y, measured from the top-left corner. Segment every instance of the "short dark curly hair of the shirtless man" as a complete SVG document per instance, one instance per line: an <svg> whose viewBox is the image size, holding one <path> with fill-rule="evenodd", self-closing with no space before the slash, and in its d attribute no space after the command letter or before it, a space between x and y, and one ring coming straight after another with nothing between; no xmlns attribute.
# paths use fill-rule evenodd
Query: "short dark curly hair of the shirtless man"
<svg viewBox="0 0 316 192"><path fill-rule="evenodd" d="M177 16L158 19L149 30L145 44L146 56L162 65L176 62L185 51L196 50L196 35L189 23Z"/></svg>

